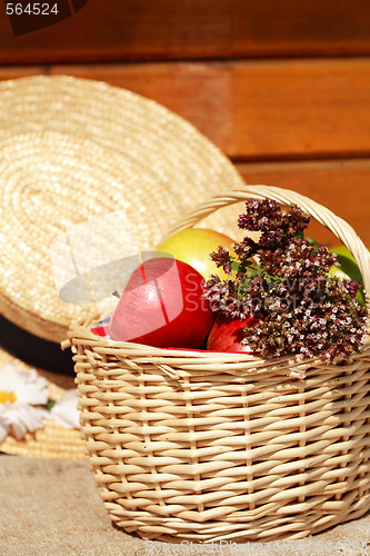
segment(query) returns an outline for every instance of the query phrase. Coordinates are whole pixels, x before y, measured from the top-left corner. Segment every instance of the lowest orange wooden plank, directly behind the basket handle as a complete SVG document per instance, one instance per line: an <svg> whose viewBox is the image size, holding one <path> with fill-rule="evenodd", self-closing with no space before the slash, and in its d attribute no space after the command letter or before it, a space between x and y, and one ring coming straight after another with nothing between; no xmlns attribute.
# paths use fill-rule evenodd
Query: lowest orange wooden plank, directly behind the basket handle
<svg viewBox="0 0 370 556"><path fill-rule="evenodd" d="M292 189L343 218L370 248L370 160L239 163L237 169L249 185L266 183ZM321 225L309 234L331 246L338 239Z"/></svg>

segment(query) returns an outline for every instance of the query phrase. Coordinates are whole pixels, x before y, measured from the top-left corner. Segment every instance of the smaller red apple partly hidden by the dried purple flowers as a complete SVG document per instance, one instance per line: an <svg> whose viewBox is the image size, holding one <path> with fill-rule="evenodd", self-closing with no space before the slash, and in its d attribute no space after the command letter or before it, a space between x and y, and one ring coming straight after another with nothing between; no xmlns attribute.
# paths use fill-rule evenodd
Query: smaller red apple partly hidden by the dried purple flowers
<svg viewBox="0 0 370 556"><path fill-rule="evenodd" d="M211 351L244 351L251 354L249 346L242 344L243 328L257 326L258 318L247 317L246 319L230 319L218 317L209 332L207 349Z"/></svg>

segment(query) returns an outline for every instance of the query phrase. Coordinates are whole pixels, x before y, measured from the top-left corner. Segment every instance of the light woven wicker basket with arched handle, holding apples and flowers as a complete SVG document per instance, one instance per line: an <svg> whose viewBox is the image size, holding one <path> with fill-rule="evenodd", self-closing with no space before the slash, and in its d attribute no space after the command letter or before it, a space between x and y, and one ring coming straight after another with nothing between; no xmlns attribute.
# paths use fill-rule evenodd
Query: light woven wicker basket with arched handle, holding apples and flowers
<svg viewBox="0 0 370 556"><path fill-rule="evenodd" d="M248 197L297 203L330 228L370 291L369 254L352 228L292 191L246 186L177 229ZM69 337L90 464L119 527L150 539L267 542L370 508L369 342L334 366L114 342L90 325Z"/></svg>

